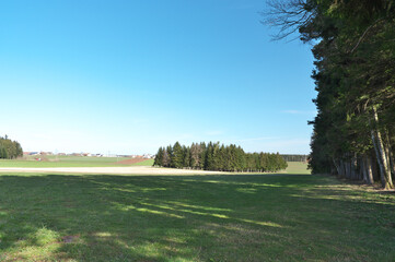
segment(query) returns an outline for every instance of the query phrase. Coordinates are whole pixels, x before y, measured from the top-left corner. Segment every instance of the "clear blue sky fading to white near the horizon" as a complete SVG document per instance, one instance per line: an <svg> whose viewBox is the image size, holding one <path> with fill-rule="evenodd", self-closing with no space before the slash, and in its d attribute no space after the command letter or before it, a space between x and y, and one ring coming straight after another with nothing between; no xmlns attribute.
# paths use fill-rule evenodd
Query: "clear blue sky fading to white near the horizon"
<svg viewBox="0 0 395 262"><path fill-rule="evenodd" d="M200 141L305 154L313 58L264 0L0 1L0 134L24 151Z"/></svg>

